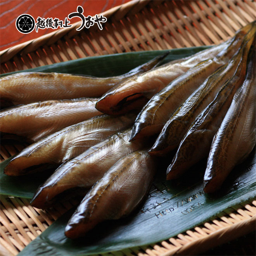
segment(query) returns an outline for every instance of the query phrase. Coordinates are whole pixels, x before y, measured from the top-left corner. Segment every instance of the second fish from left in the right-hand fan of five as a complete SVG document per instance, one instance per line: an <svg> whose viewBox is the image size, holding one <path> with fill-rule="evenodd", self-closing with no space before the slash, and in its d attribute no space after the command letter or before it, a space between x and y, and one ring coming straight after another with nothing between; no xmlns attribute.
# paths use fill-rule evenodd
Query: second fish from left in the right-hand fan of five
<svg viewBox="0 0 256 256"><path fill-rule="evenodd" d="M253 26L251 26L253 27ZM213 59L202 62L187 73L173 80L145 105L138 114L131 140L159 133L178 107L193 93L199 85L218 67L228 62L239 49L244 39L244 31L239 31L225 45L225 48Z"/></svg>

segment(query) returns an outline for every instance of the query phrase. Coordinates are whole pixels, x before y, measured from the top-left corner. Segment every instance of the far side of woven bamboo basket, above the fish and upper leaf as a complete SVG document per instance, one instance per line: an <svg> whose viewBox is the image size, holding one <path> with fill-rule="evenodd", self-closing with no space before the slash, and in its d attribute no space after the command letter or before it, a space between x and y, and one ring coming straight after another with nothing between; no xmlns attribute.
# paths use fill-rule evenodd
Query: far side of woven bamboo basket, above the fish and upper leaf
<svg viewBox="0 0 256 256"><path fill-rule="evenodd" d="M104 29L59 29L0 52L1 73L81 57L211 45L256 17L255 1L143 1L114 7Z"/></svg>

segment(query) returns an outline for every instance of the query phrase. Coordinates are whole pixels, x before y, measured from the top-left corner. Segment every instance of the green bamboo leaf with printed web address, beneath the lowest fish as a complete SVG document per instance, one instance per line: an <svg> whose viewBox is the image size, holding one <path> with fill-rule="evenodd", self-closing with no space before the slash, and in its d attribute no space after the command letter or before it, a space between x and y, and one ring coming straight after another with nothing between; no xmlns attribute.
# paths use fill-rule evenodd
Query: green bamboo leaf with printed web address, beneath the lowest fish
<svg viewBox="0 0 256 256"><path fill-rule="evenodd" d="M255 150L246 162L232 171L218 194L203 193L204 169L204 164L196 166L190 175L175 182L168 182L164 175L159 175L147 199L131 216L101 223L87 236L77 240L64 235L73 209L33 240L19 256L95 255L154 244L185 232L225 209L256 196Z"/></svg>

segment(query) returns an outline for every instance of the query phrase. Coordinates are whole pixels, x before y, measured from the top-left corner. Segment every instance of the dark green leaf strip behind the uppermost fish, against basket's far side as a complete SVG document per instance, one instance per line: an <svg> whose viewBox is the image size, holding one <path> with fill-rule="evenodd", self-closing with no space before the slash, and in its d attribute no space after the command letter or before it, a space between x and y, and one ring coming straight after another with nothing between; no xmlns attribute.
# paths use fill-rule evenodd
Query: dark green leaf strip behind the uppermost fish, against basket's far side
<svg viewBox="0 0 256 256"><path fill-rule="evenodd" d="M19 72L58 72L58 73L70 73L70 74L86 74L91 76L118 76L124 74L131 69L153 59L157 55L165 52L170 52L164 59L163 63L187 57L195 54L201 50L209 48L209 46L180 48L173 50L158 50L158 51L144 51L144 52L129 52L122 54L110 54L96 57L86 57L73 61L65 61L55 63L52 65L35 67L32 69L26 69L22 71L11 72L2 74L6 76L8 74Z"/></svg>

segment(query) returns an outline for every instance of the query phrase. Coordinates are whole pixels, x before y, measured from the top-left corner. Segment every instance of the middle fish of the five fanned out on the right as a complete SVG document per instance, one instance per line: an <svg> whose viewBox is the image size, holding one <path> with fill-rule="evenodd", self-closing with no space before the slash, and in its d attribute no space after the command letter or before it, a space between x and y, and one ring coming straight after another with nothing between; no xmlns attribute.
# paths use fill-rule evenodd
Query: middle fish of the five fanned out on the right
<svg viewBox="0 0 256 256"><path fill-rule="evenodd" d="M150 155L162 156L178 147L182 138L189 130L190 125L200 112L211 103L221 86L240 70L246 67L247 54L254 40L255 28L252 34L248 34L245 43L234 57L224 66L221 66L195 92L180 106L164 125L154 146L150 149ZM237 75L239 75L237 73Z"/></svg>

